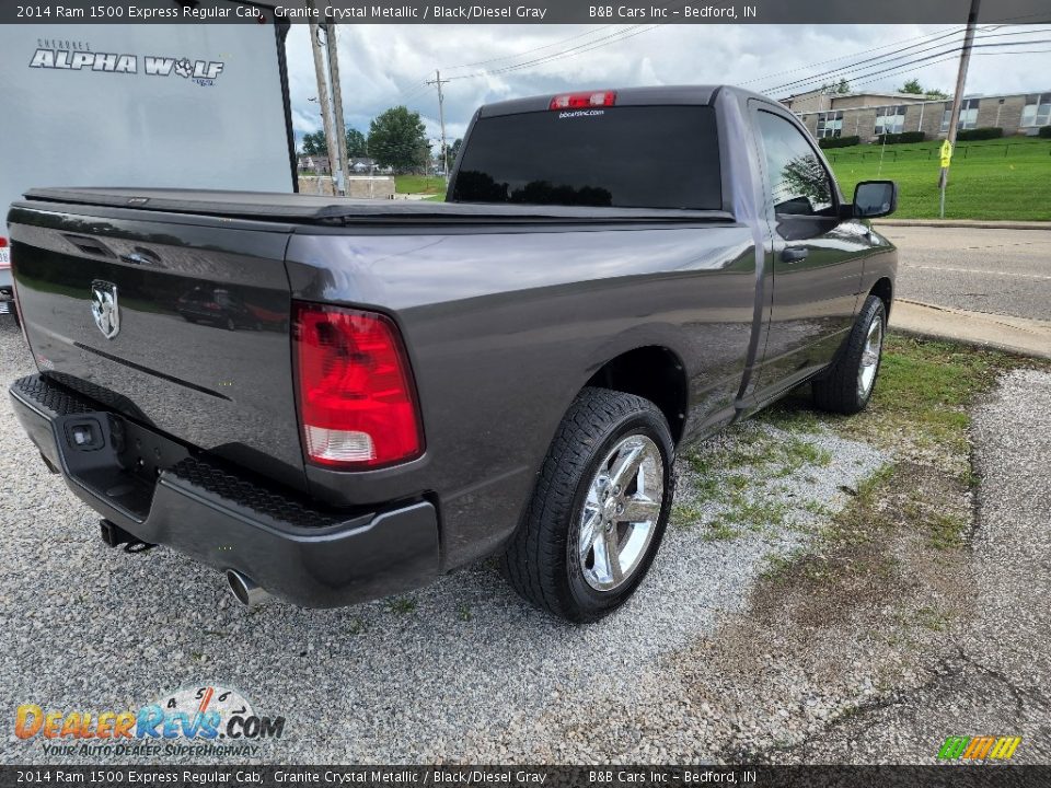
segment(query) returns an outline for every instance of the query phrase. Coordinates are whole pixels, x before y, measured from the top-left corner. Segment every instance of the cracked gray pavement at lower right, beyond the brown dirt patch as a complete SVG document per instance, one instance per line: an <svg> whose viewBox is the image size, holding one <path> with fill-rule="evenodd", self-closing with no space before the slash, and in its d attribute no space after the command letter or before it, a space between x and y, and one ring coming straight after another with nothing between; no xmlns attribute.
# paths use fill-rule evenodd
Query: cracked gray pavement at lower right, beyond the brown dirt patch
<svg viewBox="0 0 1051 788"><path fill-rule="evenodd" d="M962 616L925 670L792 753L796 763L934 763L946 735L1021 737L1051 763L1051 373L1016 370L977 408L982 495Z"/></svg>

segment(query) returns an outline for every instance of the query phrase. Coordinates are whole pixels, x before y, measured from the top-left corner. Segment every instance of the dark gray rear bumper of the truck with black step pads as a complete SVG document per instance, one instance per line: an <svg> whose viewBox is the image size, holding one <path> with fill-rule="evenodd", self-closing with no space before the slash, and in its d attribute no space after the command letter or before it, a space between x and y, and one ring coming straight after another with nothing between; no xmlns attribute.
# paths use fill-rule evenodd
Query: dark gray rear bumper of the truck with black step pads
<svg viewBox="0 0 1051 788"><path fill-rule="evenodd" d="M427 500L353 514L322 510L42 375L15 381L10 395L70 489L142 542L234 569L307 607L377 599L438 573L438 515Z"/></svg>

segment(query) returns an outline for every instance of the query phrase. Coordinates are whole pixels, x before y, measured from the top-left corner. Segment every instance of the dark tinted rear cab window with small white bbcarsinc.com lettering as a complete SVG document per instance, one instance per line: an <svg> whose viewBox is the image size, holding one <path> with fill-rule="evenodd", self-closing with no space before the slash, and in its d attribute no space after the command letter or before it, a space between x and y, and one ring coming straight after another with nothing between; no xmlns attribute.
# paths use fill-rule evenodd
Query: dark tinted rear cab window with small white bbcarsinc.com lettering
<svg viewBox="0 0 1051 788"><path fill-rule="evenodd" d="M715 109L612 106L482 117L452 199L718 210Z"/></svg>

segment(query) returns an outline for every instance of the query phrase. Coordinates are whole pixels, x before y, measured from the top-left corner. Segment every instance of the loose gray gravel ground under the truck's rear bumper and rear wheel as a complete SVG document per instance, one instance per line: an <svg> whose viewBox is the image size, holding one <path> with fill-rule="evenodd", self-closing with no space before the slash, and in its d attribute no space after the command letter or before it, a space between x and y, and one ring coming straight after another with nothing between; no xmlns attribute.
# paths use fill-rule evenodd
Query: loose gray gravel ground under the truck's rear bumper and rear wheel
<svg viewBox="0 0 1051 788"><path fill-rule="evenodd" d="M0 370L4 390L32 371L10 321ZM704 484L706 456L739 461L718 472L732 495ZM258 756L284 763L714 760L712 738L688 737L675 705L724 695L719 671L700 691L662 671L693 659L743 609L769 558L805 543L888 460L824 430L766 424L712 441L680 463L672 526L640 592L586 628L527 606L488 565L340 611L270 602L249 612L217 572L171 551L105 547L97 517L46 472L4 396L0 708L9 720L22 703L120 710L216 683L287 718L285 737ZM587 711L601 711L601 732L564 725ZM730 723L703 705L694 712ZM738 730L782 719L765 707L740 714L754 719L732 720ZM55 762L4 728L0 760Z"/></svg>

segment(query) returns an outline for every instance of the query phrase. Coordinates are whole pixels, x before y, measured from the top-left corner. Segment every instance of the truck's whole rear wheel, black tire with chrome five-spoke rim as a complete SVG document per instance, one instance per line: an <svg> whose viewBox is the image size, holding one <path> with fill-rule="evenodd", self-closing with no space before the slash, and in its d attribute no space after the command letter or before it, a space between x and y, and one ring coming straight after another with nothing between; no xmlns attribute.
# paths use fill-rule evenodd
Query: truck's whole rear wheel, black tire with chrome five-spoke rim
<svg viewBox="0 0 1051 788"><path fill-rule="evenodd" d="M622 605L646 576L674 494L674 444L648 399L585 389L566 414L503 560L523 598L571 622Z"/></svg>

